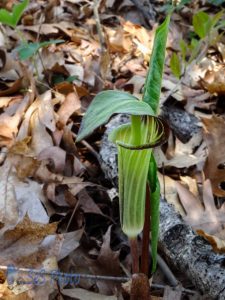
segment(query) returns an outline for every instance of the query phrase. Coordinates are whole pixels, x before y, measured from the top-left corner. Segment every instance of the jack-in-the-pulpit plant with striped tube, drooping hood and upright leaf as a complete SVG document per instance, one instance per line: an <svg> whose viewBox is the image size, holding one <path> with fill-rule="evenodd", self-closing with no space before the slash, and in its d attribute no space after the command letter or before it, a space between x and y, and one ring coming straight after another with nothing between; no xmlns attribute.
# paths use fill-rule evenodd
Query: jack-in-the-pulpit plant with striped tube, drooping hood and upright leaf
<svg viewBox="0 0 225 300"><path fill-rule="evenodd" d="M98 126L107 123L114 114L131 115L130 123L114 129L109 136L118 148L120 221L129 238L141 233L148 183L153 271L156 268L160 188L152 148L165 142L168 134L165 122L157 114L169 22L170 16L167 16L156 30L142 100L116 90L99 93L87 109L77 137L77 142L82 140Z"/></svg>

